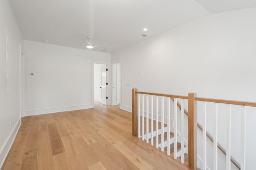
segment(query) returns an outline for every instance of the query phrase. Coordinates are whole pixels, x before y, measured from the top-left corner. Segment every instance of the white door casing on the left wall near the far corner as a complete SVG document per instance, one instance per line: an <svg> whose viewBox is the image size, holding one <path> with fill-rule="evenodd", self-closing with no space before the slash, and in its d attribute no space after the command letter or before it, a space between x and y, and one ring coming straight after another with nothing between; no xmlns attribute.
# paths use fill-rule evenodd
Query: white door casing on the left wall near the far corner
<svg viewBox="0 0 256 170"><path fill-rule="evenodd" d="M20 44L20 118L25 116L25 51Z"/></svg>

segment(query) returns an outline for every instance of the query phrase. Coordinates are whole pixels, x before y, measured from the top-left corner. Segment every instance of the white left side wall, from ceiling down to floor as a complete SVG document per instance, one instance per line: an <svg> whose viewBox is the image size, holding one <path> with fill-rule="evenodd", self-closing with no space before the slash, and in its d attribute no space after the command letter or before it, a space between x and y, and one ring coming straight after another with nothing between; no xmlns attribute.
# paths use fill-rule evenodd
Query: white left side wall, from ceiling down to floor
<svg viewBox="0 0 256 170"><path fill-rule="evenodd" d="M11 85L5 91L6 27L11 41ZM22 34L8 0L0 1L0 168L20 125L20 44ZM12 127L10 127L12 121Z"/></svg>

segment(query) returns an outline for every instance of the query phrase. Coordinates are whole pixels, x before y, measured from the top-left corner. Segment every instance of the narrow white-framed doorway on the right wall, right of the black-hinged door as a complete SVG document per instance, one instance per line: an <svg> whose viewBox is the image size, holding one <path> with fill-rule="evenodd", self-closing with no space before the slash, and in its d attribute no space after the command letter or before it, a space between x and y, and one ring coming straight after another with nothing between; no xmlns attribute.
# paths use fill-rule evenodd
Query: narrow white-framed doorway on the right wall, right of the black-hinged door
<svg viewBox="0 0 256 170"><path fill-rule="evenodd" d="M112 106L120 104L120 63L112 64Z"/></svg>

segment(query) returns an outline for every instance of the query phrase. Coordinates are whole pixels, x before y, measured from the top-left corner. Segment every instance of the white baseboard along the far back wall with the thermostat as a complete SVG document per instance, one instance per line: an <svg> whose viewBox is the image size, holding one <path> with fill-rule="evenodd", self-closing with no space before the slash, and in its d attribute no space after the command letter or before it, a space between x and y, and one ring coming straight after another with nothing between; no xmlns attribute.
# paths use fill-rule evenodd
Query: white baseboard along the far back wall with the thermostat
<svg viewBox="0 0 256 170"><path fill-rule="evenodd" d="M62 111L72 111L72 110L90 109L90 108L92 108L92 104L79 105L79 106L56 107L56 108L50 108L50 109L26 110L25 116L42 115L42 114L46 114L46 113L56 113L56 112L62 112Z"/></svg>

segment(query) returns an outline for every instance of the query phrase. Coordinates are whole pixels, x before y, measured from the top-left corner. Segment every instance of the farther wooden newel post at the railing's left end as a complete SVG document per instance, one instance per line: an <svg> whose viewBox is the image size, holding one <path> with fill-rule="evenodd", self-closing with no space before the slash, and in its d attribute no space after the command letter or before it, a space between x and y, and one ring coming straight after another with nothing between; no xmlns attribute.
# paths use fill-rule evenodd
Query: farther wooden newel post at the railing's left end
<svg viewBox="0 0 256 170"><path fill-rule="evenodd" d="M137 92L138 90L136 88L132 89L132 135L136 136L138 135L138 98Z"/></svg>

